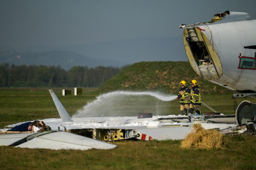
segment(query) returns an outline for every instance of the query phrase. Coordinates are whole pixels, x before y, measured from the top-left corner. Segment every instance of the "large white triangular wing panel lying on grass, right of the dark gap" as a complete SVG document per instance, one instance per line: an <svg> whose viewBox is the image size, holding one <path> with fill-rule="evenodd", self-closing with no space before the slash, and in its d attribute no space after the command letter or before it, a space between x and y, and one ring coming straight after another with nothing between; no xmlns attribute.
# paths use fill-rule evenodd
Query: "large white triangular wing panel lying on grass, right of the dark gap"
<svg viewBox="0 0 256 170"><path fill-rule="evenodd" d="M31 137L31 136L30 136ZM34 137L17 148L43 148L43 149L113 149L116 145L94 140L64 131L57 131Z"/></svg>

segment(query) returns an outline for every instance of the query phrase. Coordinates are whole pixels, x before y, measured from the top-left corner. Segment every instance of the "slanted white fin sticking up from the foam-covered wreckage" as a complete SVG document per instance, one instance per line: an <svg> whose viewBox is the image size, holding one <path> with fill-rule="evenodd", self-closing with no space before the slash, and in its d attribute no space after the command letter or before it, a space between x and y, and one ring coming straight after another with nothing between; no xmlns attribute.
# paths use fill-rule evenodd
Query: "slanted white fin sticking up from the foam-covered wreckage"
<svg viewBox="0 0 256 170"><path fill-rule="evenodd" d="M70 122L72 121L69 113L67 112L67 110L64 108L64 106L61 104L61 102L59 101L58 97L55 95L55 93L53 92L53 90L49 89L49 92L52 96L52 100L54 101L54 104L59 112L59 116L61 116L62 122Z"/></svg>

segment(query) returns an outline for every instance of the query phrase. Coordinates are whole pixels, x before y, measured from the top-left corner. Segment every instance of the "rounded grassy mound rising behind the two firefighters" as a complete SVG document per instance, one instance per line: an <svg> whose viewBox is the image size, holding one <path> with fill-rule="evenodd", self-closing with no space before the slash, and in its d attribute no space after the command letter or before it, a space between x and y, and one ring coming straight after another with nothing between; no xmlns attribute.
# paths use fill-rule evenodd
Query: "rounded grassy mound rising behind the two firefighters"
<svg viewBox="0 0 256 170"><path fill-rule="evenodd" d="M229 93L231 90L200 78L189 62L161 61L140 62L126 67L118 75L108 80L100 90L109 92L115 90L153 90L177 94L181 80L189 82L196 79L202 94Z"/></svg>

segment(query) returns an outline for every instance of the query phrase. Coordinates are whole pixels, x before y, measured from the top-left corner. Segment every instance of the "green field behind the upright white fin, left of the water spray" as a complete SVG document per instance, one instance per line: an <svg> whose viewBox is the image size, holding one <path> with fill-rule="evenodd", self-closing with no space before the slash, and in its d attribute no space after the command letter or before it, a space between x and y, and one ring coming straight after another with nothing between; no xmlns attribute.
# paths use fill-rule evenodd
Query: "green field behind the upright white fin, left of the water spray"
<svg viewBox="0 0 256 170"><path fill-rule="evenodd" d="M98 88L84 88L84 94L78 96L62 96L62 88L0 88L0 128L17 122L59 118L48 89L53 89L70 115L99 94Z"/></svg>

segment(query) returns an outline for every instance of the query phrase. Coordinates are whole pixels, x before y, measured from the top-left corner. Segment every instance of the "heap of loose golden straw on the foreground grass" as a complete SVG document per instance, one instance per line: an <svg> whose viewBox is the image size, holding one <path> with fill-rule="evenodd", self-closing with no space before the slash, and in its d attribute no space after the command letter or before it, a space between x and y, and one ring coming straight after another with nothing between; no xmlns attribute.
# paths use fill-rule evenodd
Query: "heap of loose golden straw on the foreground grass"
<svg viewBox="0 0 256 170"><path fill-rule="evenodd" d="M201 124L195 124L194 129L181 142L181 148L211 149L225 146L223 134L217 130L204 130Z"/></svg>

